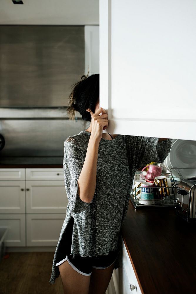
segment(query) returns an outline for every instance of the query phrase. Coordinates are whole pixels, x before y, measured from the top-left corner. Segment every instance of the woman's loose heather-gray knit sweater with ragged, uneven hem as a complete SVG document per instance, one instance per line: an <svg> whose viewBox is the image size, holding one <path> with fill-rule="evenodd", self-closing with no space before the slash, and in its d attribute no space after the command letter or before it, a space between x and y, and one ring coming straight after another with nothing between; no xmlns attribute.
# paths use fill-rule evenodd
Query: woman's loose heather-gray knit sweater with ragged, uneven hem
<svg viewBox="0 0 196 294"><path fill-rule="evenodd" d="M128 210L135 171L155 161L163 163L171 140L158 143L159 138L117 135L113 140L101 138L98 149L96 189L90 203L78 194L78 178L86 157L91 133L81 131L64 142L63 169L68 197L63 222L54 253L50 283L59 276L56 256L61 237L71 218L74 218L71 254L83 257L120 253L120 228ZM65 256L66 258L66 256ZM114 268L118 268L118 258Z"/></svg>

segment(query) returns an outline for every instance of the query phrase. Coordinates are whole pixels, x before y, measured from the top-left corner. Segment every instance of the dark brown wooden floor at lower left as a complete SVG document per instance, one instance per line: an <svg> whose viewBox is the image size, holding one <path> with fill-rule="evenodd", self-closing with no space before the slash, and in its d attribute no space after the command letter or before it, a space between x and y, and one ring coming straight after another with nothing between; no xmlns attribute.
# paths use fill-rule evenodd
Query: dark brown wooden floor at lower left
<svg viewBox="0 0 196 294"><path fill-rule="evenodd" d="M0 262L0 294L63 294L61 275L49 283L53 252L8 254Z"/></svg>

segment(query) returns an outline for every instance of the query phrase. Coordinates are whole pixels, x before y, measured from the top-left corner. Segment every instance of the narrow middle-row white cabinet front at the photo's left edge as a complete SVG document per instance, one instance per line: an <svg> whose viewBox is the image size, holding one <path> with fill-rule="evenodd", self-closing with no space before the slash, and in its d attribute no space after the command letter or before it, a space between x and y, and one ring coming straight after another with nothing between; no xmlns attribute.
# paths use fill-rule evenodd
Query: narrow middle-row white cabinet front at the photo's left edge
<svg viewBox="0 0 196 294"><path fill-rule="evenodd" d="M0 181L0 213L25 213L25 181Z"/></svg>

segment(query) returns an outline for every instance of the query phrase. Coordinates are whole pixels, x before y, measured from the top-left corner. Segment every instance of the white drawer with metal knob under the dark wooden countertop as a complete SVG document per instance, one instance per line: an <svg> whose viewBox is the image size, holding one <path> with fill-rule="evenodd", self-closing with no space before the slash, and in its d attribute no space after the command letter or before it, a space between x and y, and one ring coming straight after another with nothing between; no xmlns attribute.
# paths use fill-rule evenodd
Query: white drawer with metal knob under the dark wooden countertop
<svg viewBox="0 0 196 294"><path fill-rule="evenodd" d="M138 280L136 278L135 272L133 270L133 266L131 264L127 249L125 247L125 243L122 238L122 265L125 272L126 279L128 281L128 288L130 289L130 285L136 286L136 289L130 290L128 293L142 293L138 284ZM123 273L123 271L122 271Z"/></svg>

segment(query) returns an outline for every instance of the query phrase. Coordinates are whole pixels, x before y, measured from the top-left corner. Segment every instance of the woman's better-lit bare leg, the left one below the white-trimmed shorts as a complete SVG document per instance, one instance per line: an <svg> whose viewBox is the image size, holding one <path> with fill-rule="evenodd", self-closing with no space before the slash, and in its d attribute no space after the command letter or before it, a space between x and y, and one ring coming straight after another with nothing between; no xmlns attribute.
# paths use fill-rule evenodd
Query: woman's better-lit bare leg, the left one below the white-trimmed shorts
<svg viewBox="0 0 196 294"><path fill-rule="evenodd" d="M74 270L68 261L59 266L64 294L88 294L91 276L85 276Z"/></svg>

